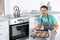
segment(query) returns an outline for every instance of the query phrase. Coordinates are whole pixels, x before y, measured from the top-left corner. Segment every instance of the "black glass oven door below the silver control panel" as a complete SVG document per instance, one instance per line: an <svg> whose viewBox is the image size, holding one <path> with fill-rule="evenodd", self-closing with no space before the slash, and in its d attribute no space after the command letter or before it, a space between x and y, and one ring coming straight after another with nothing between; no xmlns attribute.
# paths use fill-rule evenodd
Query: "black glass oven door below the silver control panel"
<svg viewBox="0 0 60 40"><path fill-rule="evenodd" d="M10 40L29 37L29 22L10 25Z"/></svg>

